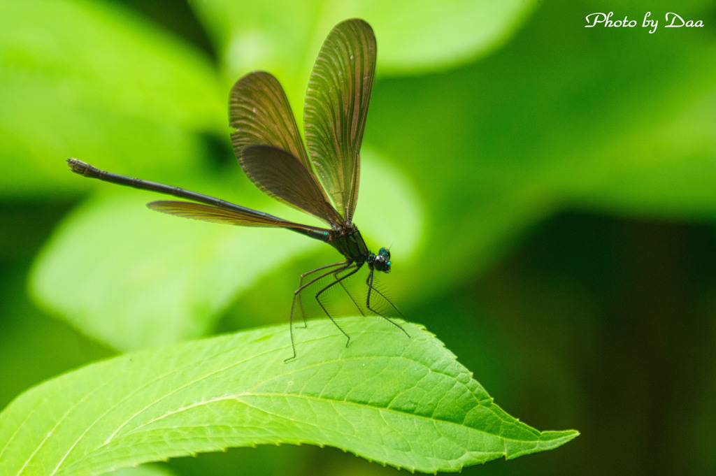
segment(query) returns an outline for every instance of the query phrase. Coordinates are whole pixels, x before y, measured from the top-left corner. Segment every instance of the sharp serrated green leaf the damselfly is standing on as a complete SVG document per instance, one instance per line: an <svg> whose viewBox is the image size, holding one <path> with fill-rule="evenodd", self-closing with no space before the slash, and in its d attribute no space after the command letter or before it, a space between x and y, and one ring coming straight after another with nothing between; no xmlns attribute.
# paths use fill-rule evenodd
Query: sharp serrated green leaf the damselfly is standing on
<svg viewBox="0 0 716 476"><path fill-rule="evenodd" d="M309 443L422 472L551 450L425 329L327 319L119 356L29 390L0 414L0 474L97 475L226 447Z"/></svg>

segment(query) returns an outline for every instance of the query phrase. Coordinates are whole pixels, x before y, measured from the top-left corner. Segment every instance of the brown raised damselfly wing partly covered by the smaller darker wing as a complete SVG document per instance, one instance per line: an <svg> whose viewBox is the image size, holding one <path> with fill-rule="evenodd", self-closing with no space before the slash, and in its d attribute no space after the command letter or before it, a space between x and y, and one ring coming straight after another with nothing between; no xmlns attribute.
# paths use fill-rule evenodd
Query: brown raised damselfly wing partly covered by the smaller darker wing
<svg viewBox="0 0 716 476"><path fill-rule="evenodd" d="M231 88L229 125L231 142L241 160L248 145L271 145L290 152L310 170L306 149L279 80L267 72L246 74Z"/></svg>

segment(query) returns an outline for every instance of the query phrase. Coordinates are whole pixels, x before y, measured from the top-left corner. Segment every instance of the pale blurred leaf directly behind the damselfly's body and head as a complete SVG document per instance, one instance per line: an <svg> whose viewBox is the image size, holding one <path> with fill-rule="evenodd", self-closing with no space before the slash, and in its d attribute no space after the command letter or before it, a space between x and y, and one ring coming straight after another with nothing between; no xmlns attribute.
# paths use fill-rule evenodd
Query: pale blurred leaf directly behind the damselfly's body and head
<svg viewBox="0 0 716 476"><path fill-rule="evenodd" d="M417 247L421 228L417 194L383 160L377 165L374 152L367 152L366 157L364 184L372 188L364 189L356 223L364 223L364 235L371 241L379 239L379 246L400 246L405 263ZM67 167L63 162L57 166ZM329 246L287 230L163 215L145 206L158 194L120 192L107 183L99 186L118 193L89 200L69 215L40 254L30 286L37 301L52 314L115 349L141 349L204 336L236 296L281 265L319 250L324 264L339 261ZM257 208L281 218L319 224L304 213L267 201L266 208ZM384 203L392 203L392 208L385 210ZM298 282L296 275L296 286ZM286 290L284 300L272 303L271 311L288 316L291 291Z"/></svg>

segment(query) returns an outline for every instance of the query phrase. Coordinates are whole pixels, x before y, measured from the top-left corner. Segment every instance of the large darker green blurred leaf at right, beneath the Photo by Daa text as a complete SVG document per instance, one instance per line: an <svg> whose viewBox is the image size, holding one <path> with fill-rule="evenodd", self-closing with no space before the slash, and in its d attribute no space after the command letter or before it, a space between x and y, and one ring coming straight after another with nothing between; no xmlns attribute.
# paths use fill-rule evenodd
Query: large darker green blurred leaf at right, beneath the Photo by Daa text
<svg viewBox="0 0 716 476"><path fill-rule="evenodd" d="M684 16L710 11L698 3L703 15ZM561 210L716 217L712 38L576 26L584 8L546 2L481 62L373 88L366 140L410 157L405 173L430 223L425 248L439 251L402 274L408 288L449 289ZM449 246L446 230L456 231Z"/></svg>

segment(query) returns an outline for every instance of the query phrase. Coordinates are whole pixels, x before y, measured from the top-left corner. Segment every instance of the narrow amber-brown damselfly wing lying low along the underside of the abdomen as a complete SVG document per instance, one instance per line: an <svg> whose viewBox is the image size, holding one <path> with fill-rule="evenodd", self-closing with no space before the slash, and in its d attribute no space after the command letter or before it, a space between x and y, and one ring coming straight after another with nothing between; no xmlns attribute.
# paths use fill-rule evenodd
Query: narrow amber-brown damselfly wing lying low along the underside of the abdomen
<svg viewBox="0 0 716 476"><path fill-rule="evenodd" d="M278 228L303 228L304 230L322 230L315 226L301 225L288 220L261 213L251 208L222 208L218 206L203 205L193 202L178 202L174 200L160 200L147 203L147 207L158 212L183 218L210 221L211 223L226 223L241 226L273 226Z"/></svg>

